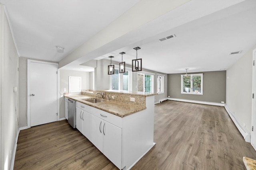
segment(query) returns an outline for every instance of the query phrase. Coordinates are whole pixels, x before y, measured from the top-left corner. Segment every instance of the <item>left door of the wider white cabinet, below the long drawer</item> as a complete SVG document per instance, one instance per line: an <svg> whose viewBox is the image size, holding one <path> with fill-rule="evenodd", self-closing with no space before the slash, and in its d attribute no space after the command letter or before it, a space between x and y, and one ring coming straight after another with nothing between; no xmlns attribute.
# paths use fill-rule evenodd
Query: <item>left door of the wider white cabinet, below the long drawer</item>
<svg viewBox="0 0 256 170"><path fill-rule="evenodd" d="M100 152L103 152L103 120L92 115L92 136L91 142Z"/></svg>

